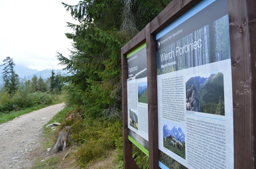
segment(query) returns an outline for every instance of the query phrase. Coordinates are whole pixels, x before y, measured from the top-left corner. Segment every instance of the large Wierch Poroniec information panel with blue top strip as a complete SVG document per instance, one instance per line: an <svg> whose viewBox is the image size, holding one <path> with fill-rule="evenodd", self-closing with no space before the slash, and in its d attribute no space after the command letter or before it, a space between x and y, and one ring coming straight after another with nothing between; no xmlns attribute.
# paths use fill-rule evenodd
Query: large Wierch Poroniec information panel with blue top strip
<svg viewBox="0 0 256 169"><path fill-rule="evenodd" d="M156 35L156 51L159 166L233 168L227 0L199 2Z"/></svg>

